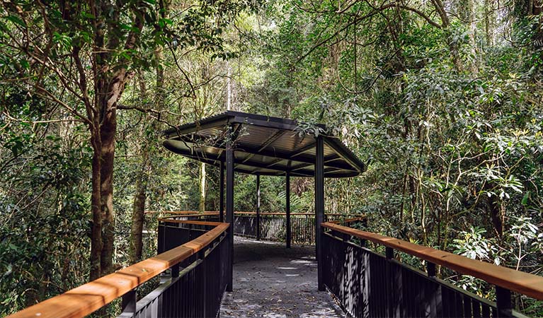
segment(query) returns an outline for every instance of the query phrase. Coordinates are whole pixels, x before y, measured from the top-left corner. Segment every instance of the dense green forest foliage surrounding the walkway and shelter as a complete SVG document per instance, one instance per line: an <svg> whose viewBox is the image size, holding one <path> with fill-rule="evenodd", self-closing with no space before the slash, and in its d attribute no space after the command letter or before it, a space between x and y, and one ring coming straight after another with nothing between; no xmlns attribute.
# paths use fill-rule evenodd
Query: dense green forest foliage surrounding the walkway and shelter
<svg viewBox="0 0 543 318"><path fill-rule="evenodd" d="M62 1L3 4L0 314L61 293L87 272L91 149L74 116L86 112L78 49L88 78L93 59L108 59L107 72L130 65L122 104L146 110L118 116L119 266L128 261L137 178L144 176L149 211L198 208L198 164L164 151L158 132L222 111L230 98L234 110L306 122L300 136L333 134L368 164L362 177L327 180L327 212L365 214L367 230L542 273L543 33L527 3L452 1L445 23L433 20L435 2L416 4L418 13L377 12L382 4L372 1L205 0L168 10L166 2L106 1L117 16L99 17L82 2L71 20ZM108 54L93 52L98 18L109 26ZM124 47L131 33L141 41ZM53 63L35 54L46 49ZM207 210L219 209L218 179L208 166ZM284 211L284 178L261 183L261 210ZM255 187L255 177L236 175L236 211L255 210ZM292 179L293 212L313 211L313 196L311 180ZM149 257L156 216L144 228ZM480 280L447 271L442 278L494 297ZM543 312L541 302L520 304Z"/></svg>

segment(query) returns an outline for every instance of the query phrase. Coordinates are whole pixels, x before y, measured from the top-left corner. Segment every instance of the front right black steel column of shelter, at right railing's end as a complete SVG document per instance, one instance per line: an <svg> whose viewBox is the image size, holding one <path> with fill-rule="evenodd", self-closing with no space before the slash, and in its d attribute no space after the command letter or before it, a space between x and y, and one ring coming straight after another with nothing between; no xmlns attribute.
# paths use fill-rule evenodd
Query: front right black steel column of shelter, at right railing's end
<svg viewBox="0 0 543 318"><path fill-rule="evenodd" d="M315 249L319 290L324 291L321 223L324 221L324 141L316 137L315 153Z"/></svg>

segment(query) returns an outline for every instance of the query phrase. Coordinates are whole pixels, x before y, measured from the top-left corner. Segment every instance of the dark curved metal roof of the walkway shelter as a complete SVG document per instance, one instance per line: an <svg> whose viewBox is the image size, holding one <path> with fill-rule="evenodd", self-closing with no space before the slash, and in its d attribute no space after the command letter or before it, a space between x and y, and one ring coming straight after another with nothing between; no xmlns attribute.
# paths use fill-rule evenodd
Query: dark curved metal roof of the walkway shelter
<svg viewBox="0 0 543 318"><path fill-rule="evenodd" d="M219 167L225 160L228 129L232 130L234 170L251 175L314 177L315 134L303 134L307 124L292 119L245 112L223 112L164 131L169 151ZM324 125L318 125L326 131ZM339 139L324 140L324 177L355 177L365 165Z"/></svg>

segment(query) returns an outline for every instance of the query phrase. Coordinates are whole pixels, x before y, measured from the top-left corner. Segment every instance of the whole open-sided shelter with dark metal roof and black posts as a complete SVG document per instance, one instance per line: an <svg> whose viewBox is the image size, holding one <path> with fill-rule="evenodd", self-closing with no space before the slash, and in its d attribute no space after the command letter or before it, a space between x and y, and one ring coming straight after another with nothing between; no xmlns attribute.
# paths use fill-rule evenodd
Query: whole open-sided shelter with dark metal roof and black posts
<svg viewBox="0 0 543 318"><path fill-rule="evenodd" d="M164 131L166 139L163 145L174 153L219 167L221 221L224 219L224 170L228 223L234 220L234 171L256 175L257 233L260 176L284 175L288 248L292 237L290 177L315 178L315 226L316 233L319 233L324 220L324 178L355 177L365 170L364 163L352 151L338 138L325 132L326 126L321 124L310 126L292 119L228 111ZM231 240L233 248L233 237ZM320 261L319 245L317 235L316 257ZM232 289L232 283L228 289ZM319 289L324 290L320 271Z"/></svg>

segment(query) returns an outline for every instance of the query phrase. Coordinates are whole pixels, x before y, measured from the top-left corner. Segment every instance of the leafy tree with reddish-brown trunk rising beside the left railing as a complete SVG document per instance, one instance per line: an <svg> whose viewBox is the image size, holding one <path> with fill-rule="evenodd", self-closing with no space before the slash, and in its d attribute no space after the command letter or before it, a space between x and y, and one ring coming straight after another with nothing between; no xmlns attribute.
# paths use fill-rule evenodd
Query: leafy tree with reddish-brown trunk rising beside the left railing
<svg viewBox="0 0 543 318"><path fill-rule="evenodd" d="M117 110L127 83L138 69L152 66L155 49L161 47L198 47L220 56L222 26L246 8L243 1L203 1L183 8L179 28L172 30L172 21L157 14L163 5L10 1L1 7L4 71L16 70L4 81L55 102L88 127L93 148L91 280L113 270L113 159ZM217 23L208 25L208 16Z"/></svg>

